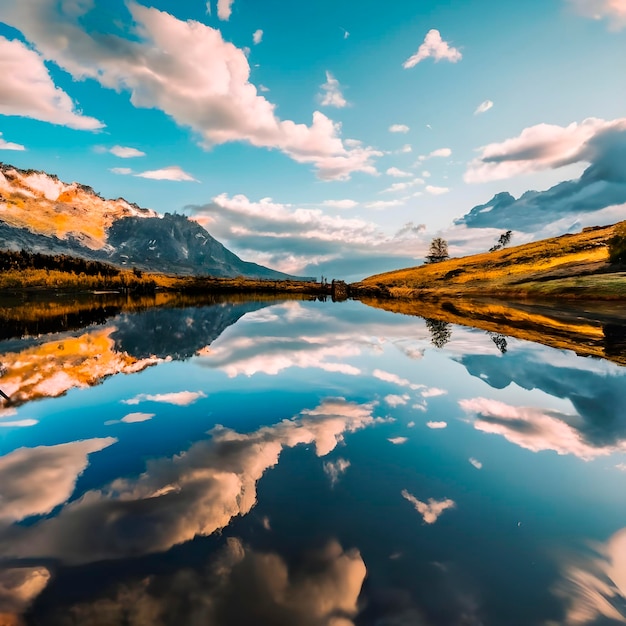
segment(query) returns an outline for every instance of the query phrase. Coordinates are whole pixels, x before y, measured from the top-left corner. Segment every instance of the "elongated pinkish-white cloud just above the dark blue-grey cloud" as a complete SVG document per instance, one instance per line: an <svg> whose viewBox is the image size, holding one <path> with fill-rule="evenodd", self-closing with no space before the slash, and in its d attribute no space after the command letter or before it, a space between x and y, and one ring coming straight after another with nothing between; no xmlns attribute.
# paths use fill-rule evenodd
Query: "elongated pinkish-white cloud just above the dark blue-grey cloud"
<svg viewBox="0 0 626 626"><path fill-rule="evenodd" d="M597 144L603 137L625 130L626 118L605 121L591 117L568 126L530 126L517 137L480 148L480 156L469 163L463 178L467 183L484 183L589 163L599 152Z"/></svg>

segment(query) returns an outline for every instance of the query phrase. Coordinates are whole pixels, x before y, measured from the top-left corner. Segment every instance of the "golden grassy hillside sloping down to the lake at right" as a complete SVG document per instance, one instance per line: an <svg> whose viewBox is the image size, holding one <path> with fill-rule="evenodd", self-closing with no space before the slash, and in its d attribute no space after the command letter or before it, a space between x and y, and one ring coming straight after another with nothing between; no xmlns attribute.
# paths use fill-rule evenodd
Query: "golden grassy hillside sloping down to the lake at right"
<svg viewBox="0 0 626 626"><path fill-rule="evenodd" d="M370 276L352 296L626 299L626 222ZM610 254L611 252L611 254Z"/></svg>

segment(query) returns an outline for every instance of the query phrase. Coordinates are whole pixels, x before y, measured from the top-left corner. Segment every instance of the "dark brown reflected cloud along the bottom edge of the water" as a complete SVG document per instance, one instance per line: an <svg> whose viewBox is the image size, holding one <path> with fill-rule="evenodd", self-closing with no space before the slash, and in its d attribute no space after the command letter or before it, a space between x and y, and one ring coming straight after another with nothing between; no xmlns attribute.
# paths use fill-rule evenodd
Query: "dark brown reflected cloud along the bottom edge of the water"
<svg viewBox="0 0 626 626"><path fill-rule="evenodd" d="M202 569L120 584L108 597L45 618L58 626L96 626L103 615L128 626L354 626L366 573L359 551L336 541L288 566L231 537Z"/></svg>

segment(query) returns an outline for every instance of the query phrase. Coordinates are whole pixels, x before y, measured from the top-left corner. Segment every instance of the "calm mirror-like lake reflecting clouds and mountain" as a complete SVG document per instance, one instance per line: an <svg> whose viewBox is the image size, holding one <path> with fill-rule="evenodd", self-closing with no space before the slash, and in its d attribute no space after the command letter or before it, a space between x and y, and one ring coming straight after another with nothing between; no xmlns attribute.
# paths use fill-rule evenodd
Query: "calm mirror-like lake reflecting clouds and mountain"
<svg viewBox="0 0 626 626"><path fill-rule="evenodd" d="M160 298L0 306L0 624L626 623L622 353Z"/></svg>

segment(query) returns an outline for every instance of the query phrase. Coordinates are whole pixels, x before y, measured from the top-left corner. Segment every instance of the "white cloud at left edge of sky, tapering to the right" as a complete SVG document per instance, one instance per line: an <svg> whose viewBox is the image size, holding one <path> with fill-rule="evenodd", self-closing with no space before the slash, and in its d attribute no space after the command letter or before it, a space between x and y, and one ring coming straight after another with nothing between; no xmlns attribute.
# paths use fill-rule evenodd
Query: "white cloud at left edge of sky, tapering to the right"
<svg viewBox="0 0 626 626"><path fill-rule="evenodd" d="M104 126L77 111L72 99L52 81L43 58L17 39L0 37L0 76L1 115L29 117L78 130Z"/></svg>

